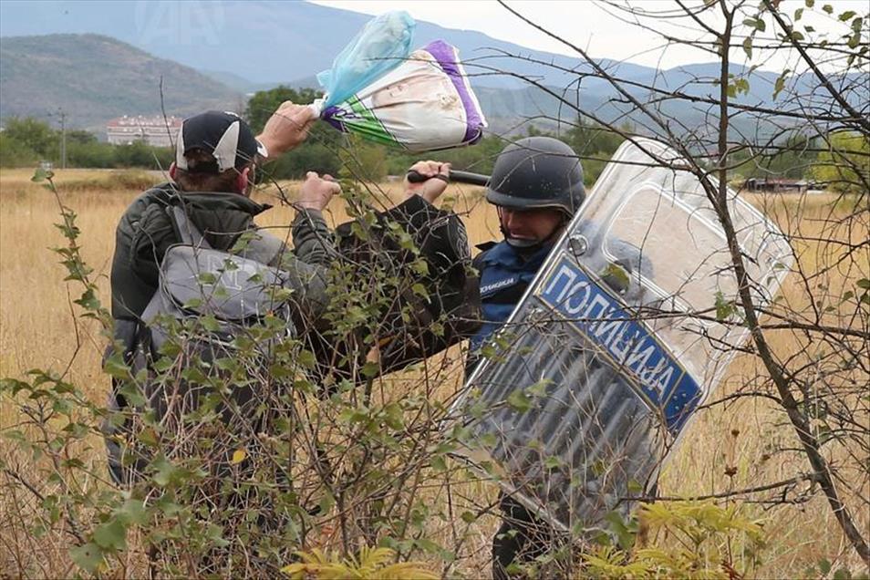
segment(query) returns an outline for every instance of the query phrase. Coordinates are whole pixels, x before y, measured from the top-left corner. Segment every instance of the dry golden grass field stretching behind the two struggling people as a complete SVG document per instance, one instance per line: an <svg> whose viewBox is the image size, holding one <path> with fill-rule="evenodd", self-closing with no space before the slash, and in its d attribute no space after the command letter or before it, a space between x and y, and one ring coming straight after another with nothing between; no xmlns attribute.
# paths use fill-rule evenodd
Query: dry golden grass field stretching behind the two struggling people
<svg viewBox="0 0 870 580"><path fill-rule="evenodd" d="M61 234L53 226L59 219L57 201L51 192L31 183L30 175L31 171L0 172L0 376L19 377L29 368L52 368L62 372L68 367L71 381L85 388L93 400L101 401L108 388L108 379L102 375L99 365L105 341L94 324L77 319L72 300L78 297L79 289L67 286L65 272L57 264L57 255L48 249L63 243ZM104 304L109 302L108 276L115 223L127 204L140 193L138 189L113 186L118 177L106 171L69 170L59 171L57 175L63 202L78 213L79 242L85 260L95 270ZM155 181L160 180L159 175L153 177ZM124 179L135 183L129 176ZM285 184L291 199L296 186L295 183ZM399 199L401 194L398 183L382 183L376 190L375 199L384 204ZM482 202L480 190L456 187L448 191L448 196L466 219L471 243L498 237L495 212ZM280 204L274 190L259 192L257 198L275 205L258 223L275 228L290 223L293 212ZM823 222L849 212L846 207L834 207L834 197L826 194L759 198L754 202L783 229L793 232L800 226L804 234L822 233L822 228L826 227ZM332 203L329 214L334 223L346 217L341 200ZM866 230L864 233L858 230L843 235L850 237L853 243L860 243ZM806 270L813 271L813 267L830 257L813 245L813 241L803 242L800 259ZM868 272L870 264L865 254L848 269L835 269L828 277L834 287L846 287L854 285L859 277L867 277ZM792 284L792 278L786 281L783 295L788 305L798 309L808 301L805 289ZM797 353L799 340L792 333L772 336L773 347L780 356ZM732 392L761 373L763 369L755 358L739 358L730 368L717 396ZM867 377L857 376L856 379L866 381ZM867 420L865 417L865 423ZM15 422L16 409L8 399L0 399L0 427ZM4 452L6 444L0 439L0 452ZM768 458L772 447L783 444L796 446L791 427L782 411L772 409L760 399L741 399L702 410L685 434L678 453L669 462L659 492L666 496L698 496L777 482L809 471L805 461L796 459L798 456L794 454L782 456L792 459ZM98 445L95 449L99 449ZM730 475L726 475L726 471ZM854 478L854 485L863 491L864 497L870 495L866 473L856 473ZM870 527L867 505L851 501L850 507L866 533ZM0 498L0 515L8 516L14 509L8 500ZM853 570L861 569L821 495L800 505L748 504L746 509L753 517L763 519L769 542L759 575L801 576L808 566L814 566L822 558L848 564ZM485 525L480 529L479 544L468 549L469 554L476 555L467 565L458 567L462 575L485 574L491 531L485 529ZM11 562L8 559L10 546L21 545L8 533L0 522L0 577L19 574L15 569L4 572L5 565ZM28 545L45 558L62 560L66 557L64 546L49 545L56 541L51 540L52 537L32 540ZM48 569L68 570L60 561Z"/></svg>

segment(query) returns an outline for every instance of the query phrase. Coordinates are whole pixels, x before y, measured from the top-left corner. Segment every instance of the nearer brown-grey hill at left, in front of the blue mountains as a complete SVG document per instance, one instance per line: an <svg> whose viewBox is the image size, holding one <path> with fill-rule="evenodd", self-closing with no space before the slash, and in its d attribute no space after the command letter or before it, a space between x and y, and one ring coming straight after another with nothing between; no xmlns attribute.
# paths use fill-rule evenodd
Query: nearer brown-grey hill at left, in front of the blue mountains
<svg viewBox="0 0 870 580"><path fill-rule="evenodd" d="M45 119L62 109L70 127L102 130L123 115L188 115L243 102L213 78L109 36L16 36L0 43L3 118Z"/></svg>

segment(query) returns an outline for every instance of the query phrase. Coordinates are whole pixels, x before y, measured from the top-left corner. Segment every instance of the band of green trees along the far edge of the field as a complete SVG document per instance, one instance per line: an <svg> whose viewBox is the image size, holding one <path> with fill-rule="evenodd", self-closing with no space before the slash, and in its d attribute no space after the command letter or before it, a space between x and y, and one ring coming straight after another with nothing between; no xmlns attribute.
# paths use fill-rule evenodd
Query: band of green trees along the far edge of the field
<svg viewBox="0 0 870 580"><path fill-rule="evenodd" d="M320 96L310 88L277 87L258 91L248 101L244 116L254 131L263 129L272 111L285 100L311 103ZM530 126L529 134L548 134ZM578 119L570 129L554 135L567 142L583 160L586 185L591 185L631 132L630 127L614 131L589 121ZM454 168L489 174L492 164L507 142L499 135L484 137L472 147L435 151L427 154L440 161L450 161ZM46 122L31 117L5 119L0 131L0 167L33 167L40 161L61 162L61 131ZM805 135L795 134L772 142L767 150L752 148L735 150L731 155L731 181L749 178L786 178L823 181L838 192L854 189L854 175L844 174L844 156L854 158L854 171L867 165L870 143L860 135L834 133L823 147ZM352 174L366 181L381 181L388 175L401 175L423 154L411 154L343 134L326 123L318 123L309 139L279 160L266 164L269 179L299 179L306 171L332 175ZM153 147L144 141L129 145L101 142L82 129L67 130L66 157L68 167L165 170L173 160L171 148ZM853 171L853 172L854 172ZM846 170L846 173L849 173Z"/></svg>

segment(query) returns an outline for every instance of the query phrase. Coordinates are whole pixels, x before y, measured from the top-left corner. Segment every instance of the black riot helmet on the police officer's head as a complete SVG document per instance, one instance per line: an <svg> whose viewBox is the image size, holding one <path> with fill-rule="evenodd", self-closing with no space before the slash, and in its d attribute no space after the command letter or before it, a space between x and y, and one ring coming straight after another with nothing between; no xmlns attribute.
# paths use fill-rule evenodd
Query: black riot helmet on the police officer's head
<svg viewBox="0 0 870 580"><path fill-rule="evenodd" d="M486 201L493 205L520 211L554 208L569 218L585 196L577 154L552 137L528 137L505 147L486 188Z"/></svg>

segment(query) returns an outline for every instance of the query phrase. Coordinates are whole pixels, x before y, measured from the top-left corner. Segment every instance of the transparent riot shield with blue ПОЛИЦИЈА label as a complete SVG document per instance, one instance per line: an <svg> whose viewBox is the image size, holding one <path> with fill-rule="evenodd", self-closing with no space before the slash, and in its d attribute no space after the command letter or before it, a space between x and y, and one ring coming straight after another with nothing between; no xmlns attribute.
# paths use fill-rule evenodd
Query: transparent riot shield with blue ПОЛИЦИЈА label
<svg viewBox="0 0 870 580"><path fill-rule="evenodd" d="M652 140L616 151L452 409L461 453L563 530L600 529L649 489L747 337L720 221L679 166ZM764 306L792 251L728 196Z"/></svg>

